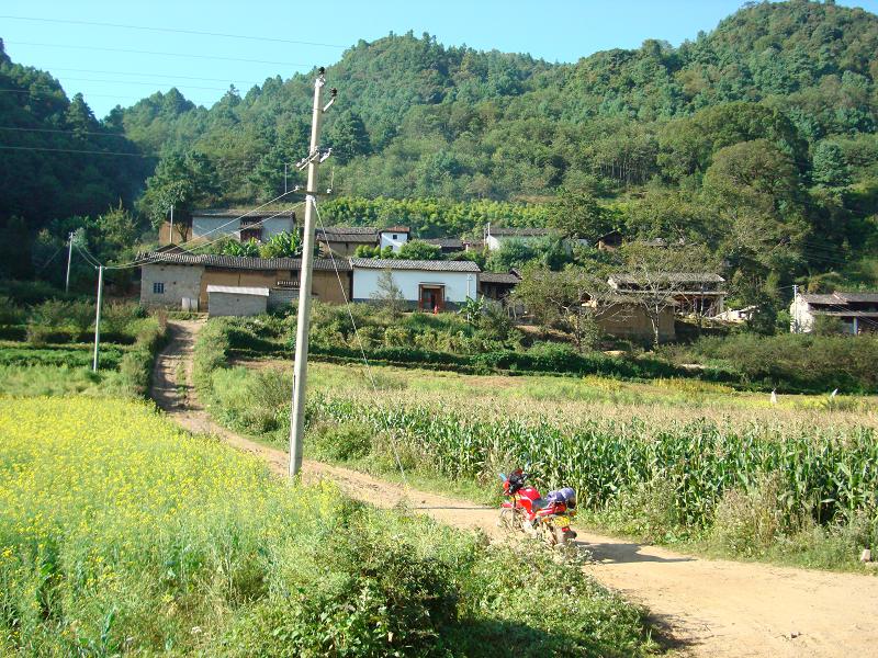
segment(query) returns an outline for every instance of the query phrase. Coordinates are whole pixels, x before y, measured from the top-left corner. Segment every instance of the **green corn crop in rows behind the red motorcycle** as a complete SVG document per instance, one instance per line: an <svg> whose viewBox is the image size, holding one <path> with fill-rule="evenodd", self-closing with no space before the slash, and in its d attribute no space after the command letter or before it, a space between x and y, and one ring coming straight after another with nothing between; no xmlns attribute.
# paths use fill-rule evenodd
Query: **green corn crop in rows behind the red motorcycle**
<svg viewBox="0 0 878 658"><path fill-rule="evenodd" d="M661 480L674 490L686 525L707 526L724 491L750 490L766 474L780 478L778 509L819 523L874 514L878 436L873 428L734 426L714 420L663 423L586 420L575 424L318 398L312 420L358 422L392 432L451 478L496 477L502 465L531 464L545 487L574 487L599 509L622 491Z"/></svg>

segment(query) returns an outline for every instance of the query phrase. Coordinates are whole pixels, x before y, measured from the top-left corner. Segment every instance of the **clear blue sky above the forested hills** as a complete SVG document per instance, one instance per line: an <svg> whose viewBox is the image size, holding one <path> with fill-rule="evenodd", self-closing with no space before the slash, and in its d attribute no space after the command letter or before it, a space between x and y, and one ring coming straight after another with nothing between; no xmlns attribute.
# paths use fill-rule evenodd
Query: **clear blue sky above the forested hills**
<svg viewBox="0 0 878 658"><path fill-rule="evenodd" d="M101 117L116 103L131 105L170 87L211 105L229 83L246 91L270 76L289 78L330 65L360 38L372 41L389 32L429 32L446 45L576 61L597 50L638 47L645 38L678 45L695 38L699 30L709 32L741 4L741 0L5 0L0 8L0 37L13 60L50 71L68 95L81 91ZM878 12L878 0L838 4ZM24 18L44 20L20 20Z"/></svg>

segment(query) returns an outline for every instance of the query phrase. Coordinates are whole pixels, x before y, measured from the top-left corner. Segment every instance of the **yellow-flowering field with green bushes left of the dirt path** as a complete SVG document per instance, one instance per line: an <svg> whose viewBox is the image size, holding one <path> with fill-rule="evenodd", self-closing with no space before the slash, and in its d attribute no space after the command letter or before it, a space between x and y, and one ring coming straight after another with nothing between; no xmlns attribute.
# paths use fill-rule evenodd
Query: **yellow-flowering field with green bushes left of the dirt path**
<svg viewBox="0 0 878 658"><path fill-rule="evenodd" d="M3 655L656 649L577 565L282 484L143 402L0 399L0 436Z"/></svg>

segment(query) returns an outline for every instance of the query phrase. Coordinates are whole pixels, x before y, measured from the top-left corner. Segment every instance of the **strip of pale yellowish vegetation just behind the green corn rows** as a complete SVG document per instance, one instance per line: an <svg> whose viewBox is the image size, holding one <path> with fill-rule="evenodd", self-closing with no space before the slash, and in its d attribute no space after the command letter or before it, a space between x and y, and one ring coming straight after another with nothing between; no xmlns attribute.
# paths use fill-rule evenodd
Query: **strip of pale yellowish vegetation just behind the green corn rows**
<svg viewBox="0 0 878 658"><path fill-rule="evenodd" d="M239 363L250 370L290 370L289 361ZM595 376L506 377L374 365L367 371L362 365L318 362L308 364L308 387L324 395L370 396L382 404L404 398L416 405L570 421L648 416L657 424L709 418L721 422L878 428L876 396L842 395L833 401L828 395L779 395L773 405L768 394L738 392L697 379L634 383Z"/></svg>

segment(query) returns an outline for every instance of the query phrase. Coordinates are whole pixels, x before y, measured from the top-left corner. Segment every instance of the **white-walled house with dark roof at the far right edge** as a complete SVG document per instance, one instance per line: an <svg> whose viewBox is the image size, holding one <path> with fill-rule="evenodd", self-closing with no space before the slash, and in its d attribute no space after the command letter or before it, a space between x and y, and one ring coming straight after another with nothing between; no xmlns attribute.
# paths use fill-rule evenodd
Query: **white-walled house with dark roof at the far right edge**
<svg viewBox="0 0 878 658"><path fill-rule="evenodd" d="M878 331L878 293L798 293L790 304L790 331L809 333L819 317L837 318L854 336Z"/></svg>

